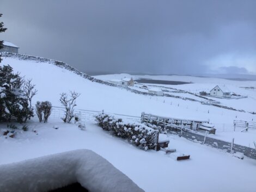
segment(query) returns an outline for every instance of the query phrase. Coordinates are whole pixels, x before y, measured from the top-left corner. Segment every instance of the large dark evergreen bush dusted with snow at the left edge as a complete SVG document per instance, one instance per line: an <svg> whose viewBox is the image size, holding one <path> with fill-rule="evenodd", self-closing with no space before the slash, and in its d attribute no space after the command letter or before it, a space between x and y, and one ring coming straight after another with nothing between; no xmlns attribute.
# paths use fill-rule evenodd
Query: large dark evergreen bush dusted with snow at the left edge
<svg viewBox="0 0 256 192"><path fill-rule="evenodd" d="M9 65L0 66L0 121L26 122L33 109L22 90L24 79Z"/></svg>

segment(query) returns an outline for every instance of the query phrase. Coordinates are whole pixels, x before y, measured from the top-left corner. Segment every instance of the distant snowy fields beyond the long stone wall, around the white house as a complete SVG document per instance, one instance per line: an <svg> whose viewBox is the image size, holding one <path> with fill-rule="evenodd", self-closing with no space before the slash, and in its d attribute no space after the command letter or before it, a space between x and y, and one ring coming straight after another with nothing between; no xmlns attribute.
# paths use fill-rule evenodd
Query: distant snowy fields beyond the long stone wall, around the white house
<svg viewBox="0 0 256 192"><path fill-rule="evenodd" d="M256 81L248 80L248 81L239 81L239 80L228 80L221 78L208 78L208 77L193 77L193 76L149 76L149 75L135 75L131 76L129 74L121 73L114 75L100 75L94 76L95 78L101 80L110 80L110 79L121 79L124 77L132 77L133 79L153 79L153 80L170 80L170 81L180 81L180 82L188 82L190 84L181 84L181 85L166 85L166 84L144 84L138 83L135 84L134 89L141 90L147 92L145 89L139 89L142 85L151 85L151 86L161 86L161 89L166 90L167 88L174 88L183 91L192 92L193 94L198 94L200 91L210 92L212 88L216 85L225 86L230 90L230 92L234 92L236 95L247 96L247 98L236 99L227 99L227 98L216 98L216 97L208 97L212 100L221 102L224 106L233 107L239 110L245 110L246 112L256 112ZM164 86L164 88L163 88ZM254 89L245 89L245 87L254 87ZM168 92L167 92L168 93ZM179 95L184 97L190 97L198 100L198 97L195 97L191 94L175 94L174 92L170 92L173 95ZM166 98L164 98L166 100ZM202 100L202 99L201 99ZM200 100L200 101L201 101ZM204 100L202 100L204 101ZM251 117L251 116L250 116ZM241 117L240 117L241 118ZM248 118L248 121L252 119Z"/></svg>

